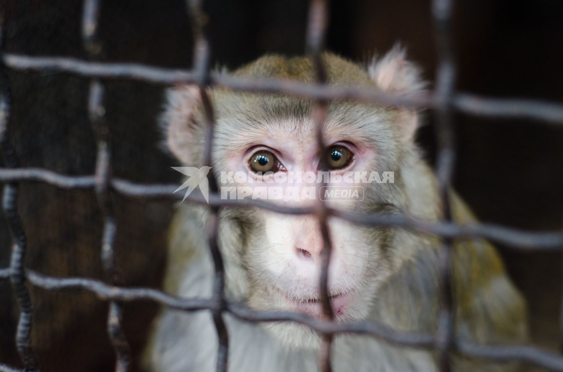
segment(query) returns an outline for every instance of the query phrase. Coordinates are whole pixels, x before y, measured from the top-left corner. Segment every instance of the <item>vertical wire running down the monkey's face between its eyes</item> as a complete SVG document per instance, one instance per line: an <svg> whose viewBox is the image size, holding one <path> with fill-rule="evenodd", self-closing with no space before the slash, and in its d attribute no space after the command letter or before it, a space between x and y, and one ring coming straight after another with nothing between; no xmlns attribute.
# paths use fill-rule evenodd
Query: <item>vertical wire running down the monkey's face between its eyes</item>
<svg viewBox="0 0 563 372"><path fill-rule="evenodd" d="M307 22L306 48L307 54L312 58L313 67L315 69L316 81L320 84L327 82L327 71L325 70L323 56L321 55L325 43L325 35L328 26L328 6L325 0L312 0L309 7L309 20ZM326 184L322 176L328 171L328 164L325 158L325 145L323 139L324 124L328 116L328 102L326 99L319 99L315 103L313 111L313 119L315 122L315 135L317 142L317 154L319 156L319 172L321 173L322 183L319 184L318 190ZM332 321L334 314L330 303L330 295L328 290L328 267L330 265L330 256L332 254L332 241L330 239L330 230L328 226L328 211L325 203L320 198L315 203L315 216L318 218L321 235L323 237L324 247L321 251L321 273L319 276L319 295L321 305L323 306L323 317ZM321 336L319 348L319 370L321 372L332 371L332 341L334 335L325 333Z"/></svg>

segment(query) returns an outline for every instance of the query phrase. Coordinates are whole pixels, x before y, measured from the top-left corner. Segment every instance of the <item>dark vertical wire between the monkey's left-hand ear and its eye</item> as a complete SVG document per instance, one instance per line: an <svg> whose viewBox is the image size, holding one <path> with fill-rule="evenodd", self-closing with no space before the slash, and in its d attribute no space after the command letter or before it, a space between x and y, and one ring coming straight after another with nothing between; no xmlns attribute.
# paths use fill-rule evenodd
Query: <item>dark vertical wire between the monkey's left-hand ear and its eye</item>
<svg viewBox="0 0 563 372"><path fill-rule="evenodd" d="M208 23L208 16L203 11L202 0L187 0L187 13L190 17L192 32L194 35L194 66L193 70L198 76L199 93L205 113L206 129L205 129L205 148L203 154L203 165L213 166L213 134L215 130L215 115L213 111L213 103L207 91L207 87L211 81L209 71L209 60L211 57L211 48L207 35L205 34L205 26ZM208 173L209 191L217 193L218 185L213 171ZM212 309L213 324L218 337L217 350L217 372L225 372L229 362L229 333L223 312L226 309L225 300L225 265L219 248L219 207L209 207L209 217L207 221L207 237L209 243L209 251L213 260L213 302L215 306Z"/></svg>

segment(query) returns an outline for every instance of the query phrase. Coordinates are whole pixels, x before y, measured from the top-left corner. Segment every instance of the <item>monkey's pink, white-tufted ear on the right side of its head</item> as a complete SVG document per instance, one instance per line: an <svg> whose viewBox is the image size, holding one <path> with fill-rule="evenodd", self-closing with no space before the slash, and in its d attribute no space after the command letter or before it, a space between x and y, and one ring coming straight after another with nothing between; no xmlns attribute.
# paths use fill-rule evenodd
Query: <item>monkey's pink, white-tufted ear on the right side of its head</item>
<svg viewBox="0 0 563 372"><path fill-rule="evenodd" d="M421 69L406 60L405 55L405 49L400 44L395 44L385 56L373 58L368 65L369 76L385 92L408 96L422 94L427 84L421 78ZM405 142L412 141L419 126L417 111L402 109L397 116L397 125L401 139Z"/></svg>

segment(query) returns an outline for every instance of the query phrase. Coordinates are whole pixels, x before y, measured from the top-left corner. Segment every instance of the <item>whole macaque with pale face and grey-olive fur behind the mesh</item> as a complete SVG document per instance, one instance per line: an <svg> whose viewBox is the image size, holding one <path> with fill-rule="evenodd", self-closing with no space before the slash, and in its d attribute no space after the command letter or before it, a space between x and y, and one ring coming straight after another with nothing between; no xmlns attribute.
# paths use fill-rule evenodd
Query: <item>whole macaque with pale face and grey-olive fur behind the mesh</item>
<svg viewBox="0 0 563 372"><path fill-rule="evenodd" d="M395 94L421 94L420 69L400 47L374 58L367 67L324 53L329 84L373 87ZM238 78L314 82L309 57L267 55L232 72ZM326 146L318 151L315 101L280 93L242 93L209 89L215 107L213 167L219 187L297 187L297 197L270 200L311 206L303 198L309 184L289 184L283 173L331 175L392 172L392 182L365 182L332 176L329 187L361 187L358 200L324 201L357 214L405 212L430 221L443 218L437 182L415 144L418 112L408 108L335 100L323 128ZM199 89L171 88L162 120L166 144L186 166L202 167L205 113ZM321 157L325 157L321 161ZM249 174L242 182L222 172ZM273 178L281 182L268 183ZM390 181L387 178L386 181ZM313 185L316 187L316 185ZM199 191L196 191L199 192ZM321 190L322 192L322 190ZM289 193L291 194L291 193ZM252 196L247 197L253 197ZM452 219L475 221L452 191ZM207 208L181 203L172 224L165 289L181 297L211 297L213 267L204 226ZM396 330L434 333L439 313L437 257L440 238L399 228L358 226L328 220L332 257L328 292L336 321L368 320ZM225 258L226 294L256 310L291 310L321 317L319 274L321 228L314 215L284 215L257 207L222 208L220 247ZM482 239L458 239L453 247L453 297L457 337L479 344L525 343L526 305L504 271L494 247ZM225 314L231 372L317 371L319 335L305 325L248 323ZM215 369L217 335L209 311L165 309L155 321L145 361L160 372ZM437 353L392 346L369 335L338 334L332 349L334 371L436 371ZM455 371L512 371L515 364L493 364L454 353Z"/></svg>

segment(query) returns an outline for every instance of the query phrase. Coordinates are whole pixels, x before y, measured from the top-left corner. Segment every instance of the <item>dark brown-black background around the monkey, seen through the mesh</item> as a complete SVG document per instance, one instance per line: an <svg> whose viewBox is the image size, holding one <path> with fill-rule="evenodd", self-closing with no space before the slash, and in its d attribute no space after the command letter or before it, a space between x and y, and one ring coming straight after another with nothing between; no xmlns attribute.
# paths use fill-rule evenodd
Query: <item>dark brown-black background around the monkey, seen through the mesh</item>
<svg viewBox="0 0 563 372"><path fill-rule="evenodd" d="M2 0L7 52L84 58L81 1ZM213 61L236 67L266 52L300 55L307 2L207 1ZM563 2L455 1L454 39L460 90L490 96L563 101ZM365 61L396 40L408 47L432 81L435 70L430 4L426 0L333 1L328 48ZM104 60L189 68L191 35L181 0L102 1ZM95 139L86 113L88 81L64 74L8 72L10 133L21 166L64 174L93 174ZM107 83L106 107L114 174L137 182L176 182L175 162L158 148L155 125L162 88L131 81ZM561 131L526 120L458 115L455 187L481 220L537 230L562 226ZM434 159L432 116L419 132ZM125 285L158 287L171 202L116 197L118 270ZM19 207L28 234L28 266L56 276L102 278L102 218L93 192L23 184ZM10 235L0 221L0 267L8 265ZM508 270L528 298L536 344L556 350L561 256L500 247ZM107 305L88 293L32 289L33 344L43 370L111 370L105 333ZM0 362L19 364L14 350L17 306L0 283ZM156 306L126 305L126 334L138 353ZM195 336L194 336L195 337Z"/></svg>

